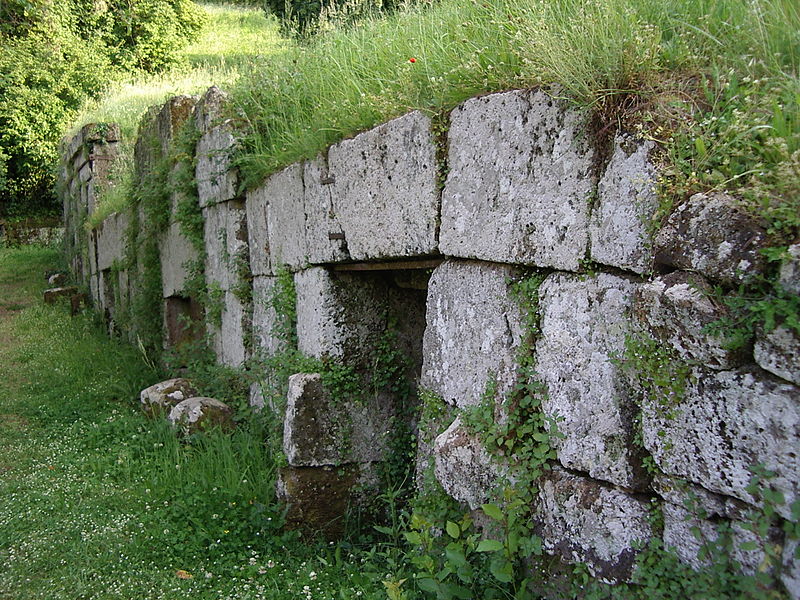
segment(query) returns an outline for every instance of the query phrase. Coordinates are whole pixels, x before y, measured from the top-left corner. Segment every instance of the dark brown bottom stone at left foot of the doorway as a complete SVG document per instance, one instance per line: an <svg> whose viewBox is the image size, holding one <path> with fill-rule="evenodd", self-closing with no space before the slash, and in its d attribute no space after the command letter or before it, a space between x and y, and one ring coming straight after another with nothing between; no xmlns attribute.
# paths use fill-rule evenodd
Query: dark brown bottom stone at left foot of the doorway
<svg viewBox="0 0 800 600"><path fill-rule="evenodd" d="M278 499L286 506L286 527L310 537L340 539L346 531L349 508L368 508L378 481L370 465L341 467L284 467L277 484Z"/></svg>

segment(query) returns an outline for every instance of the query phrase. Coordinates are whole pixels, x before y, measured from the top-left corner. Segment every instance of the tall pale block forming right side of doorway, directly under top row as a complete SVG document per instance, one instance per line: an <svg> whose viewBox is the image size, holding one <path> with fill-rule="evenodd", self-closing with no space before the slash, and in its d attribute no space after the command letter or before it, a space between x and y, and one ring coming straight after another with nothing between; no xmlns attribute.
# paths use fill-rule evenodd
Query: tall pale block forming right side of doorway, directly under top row
<svg viewBox="0 0 800 600"><path fill-rule="evenodd" d="M490 382L499 397L517 378L524 332L509 266L447 261L428 284L421 385L459 407L477 404Z"/></svg>

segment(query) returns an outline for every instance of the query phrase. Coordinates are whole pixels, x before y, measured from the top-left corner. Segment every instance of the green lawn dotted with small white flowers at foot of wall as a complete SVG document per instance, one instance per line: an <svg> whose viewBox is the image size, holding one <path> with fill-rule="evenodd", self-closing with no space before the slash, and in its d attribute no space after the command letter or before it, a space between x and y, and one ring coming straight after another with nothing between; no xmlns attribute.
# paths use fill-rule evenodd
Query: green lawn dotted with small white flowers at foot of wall
<svg viewBox="0 0 800 600"><path fill-rule="evenodd" d="M366 554L283 533L257 421L187 443L139 412L163 374L32 300L58 261L0 249L0 297L27 305L0 315L0 596L381 597Z"/></svg>

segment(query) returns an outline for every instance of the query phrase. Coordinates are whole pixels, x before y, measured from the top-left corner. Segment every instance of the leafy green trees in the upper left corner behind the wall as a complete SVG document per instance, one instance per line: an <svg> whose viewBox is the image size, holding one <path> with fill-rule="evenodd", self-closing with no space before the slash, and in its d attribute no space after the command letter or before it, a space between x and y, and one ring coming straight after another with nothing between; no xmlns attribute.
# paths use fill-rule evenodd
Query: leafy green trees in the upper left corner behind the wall
<svg viewBox="0 0 800 600"><path fill-rule="evenodd" d="M0 216L49 213L57 146L86 97L162 71L202 22L190 0L11 0L0 7Z"/></svg>

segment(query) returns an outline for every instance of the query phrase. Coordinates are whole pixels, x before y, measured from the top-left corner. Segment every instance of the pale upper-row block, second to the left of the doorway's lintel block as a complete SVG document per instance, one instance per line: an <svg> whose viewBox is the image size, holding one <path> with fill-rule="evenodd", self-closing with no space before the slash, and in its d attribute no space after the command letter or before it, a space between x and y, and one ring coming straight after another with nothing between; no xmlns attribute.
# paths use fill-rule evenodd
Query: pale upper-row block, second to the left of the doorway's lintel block
<svg viewBox="0 0 800 600"><path fill-rule="evenodd" d="M268 202L267 232L272 273L287 265L306 264L306 213L303 204L303 165L295 163L270 177L263 194Z"/></svg>

